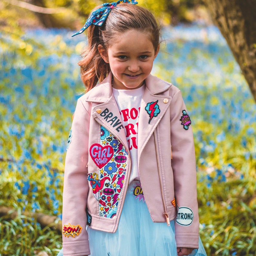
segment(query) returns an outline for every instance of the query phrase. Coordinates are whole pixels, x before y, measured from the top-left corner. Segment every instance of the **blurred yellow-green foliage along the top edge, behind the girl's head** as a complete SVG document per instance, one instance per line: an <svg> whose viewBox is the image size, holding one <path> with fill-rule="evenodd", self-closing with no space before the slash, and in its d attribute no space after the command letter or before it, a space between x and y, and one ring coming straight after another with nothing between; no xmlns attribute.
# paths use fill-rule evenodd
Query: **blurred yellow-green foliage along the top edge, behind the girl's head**
<svg viewBox="0 0 256 256"><path fill-rule="evenodd" d="M65 27L80 29L91 10L105 0L31 0L29 3L44 8L51 8L51 15L37 13L34 8L20 7L24 0L2 0L0 3L0 28L23 30L31 26ZM151 9L165 24L177 24L179 21L192 22L206 18L207 11L201 0L140 0L139 5ZM25 18L24 18L25 17Z"/></svg>

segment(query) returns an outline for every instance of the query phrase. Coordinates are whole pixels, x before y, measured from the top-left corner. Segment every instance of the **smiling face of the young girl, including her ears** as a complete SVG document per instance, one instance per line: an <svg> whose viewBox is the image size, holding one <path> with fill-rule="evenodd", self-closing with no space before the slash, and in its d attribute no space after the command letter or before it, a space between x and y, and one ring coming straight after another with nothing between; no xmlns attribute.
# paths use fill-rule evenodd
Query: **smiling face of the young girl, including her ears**
<svg viewBox="0 0 256 256"><path fill-rule="evenodd" d="M113 88L130 90L141 87L152 70L159 46L155 51L150 34L135 29L118 34L112 42L107 51L99 45L99 52L110 65Z"/></svg>

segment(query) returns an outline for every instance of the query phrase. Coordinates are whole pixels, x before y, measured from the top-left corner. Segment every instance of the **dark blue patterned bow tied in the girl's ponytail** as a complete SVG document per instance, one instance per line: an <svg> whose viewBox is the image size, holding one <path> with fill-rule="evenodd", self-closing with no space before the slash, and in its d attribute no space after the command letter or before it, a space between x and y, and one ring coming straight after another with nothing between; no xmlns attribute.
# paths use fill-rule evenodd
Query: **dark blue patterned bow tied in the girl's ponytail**
<svg viewBox="0 0 256 256"><path fill-rule="evenodd" d="M88 28L90 25L94 24L97 26L101 26L103 24L103 22L106 20L107 16L109 15L110 11L118 4L120 3L128 3L128 4L133 4L136 5L138 4L137 1L135 0L120 0L117 2L112 2L112 3L104 3L102 4L101 8L97 9L96 11L94 11L89 18L87 19L87 21L85 22L84 26L75 34L73 34L72 36L75 36L77 34L81 34L84 32L84 30L86 28Z"/></svg>

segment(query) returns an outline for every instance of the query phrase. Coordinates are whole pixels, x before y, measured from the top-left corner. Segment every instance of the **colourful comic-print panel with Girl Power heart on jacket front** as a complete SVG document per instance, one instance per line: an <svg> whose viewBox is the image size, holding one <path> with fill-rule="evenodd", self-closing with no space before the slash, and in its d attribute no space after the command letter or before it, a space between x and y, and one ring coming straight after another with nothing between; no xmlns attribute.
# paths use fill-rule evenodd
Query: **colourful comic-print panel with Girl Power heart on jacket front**
<svg viewBox="0 0 256 256"><path fill-rule="evenodd" d="M98 172L90 173L88 181L99 202L99 215L115 218L129 161L128 152L103 126L99 136L100 143L94 143L90 147L90 156L98 167Z"/></svg>

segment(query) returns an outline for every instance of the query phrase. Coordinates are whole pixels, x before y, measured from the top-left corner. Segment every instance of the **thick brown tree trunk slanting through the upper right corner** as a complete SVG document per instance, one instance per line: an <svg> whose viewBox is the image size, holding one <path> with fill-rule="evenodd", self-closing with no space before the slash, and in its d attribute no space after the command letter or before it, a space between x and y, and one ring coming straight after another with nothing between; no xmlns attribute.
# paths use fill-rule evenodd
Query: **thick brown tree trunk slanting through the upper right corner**
<svg viewBox="0 0 256 256"><path fill-rule="evenodd" d="M255 0L203 0L226 39L256 102Z"/></svg>

